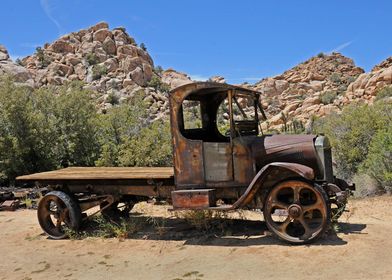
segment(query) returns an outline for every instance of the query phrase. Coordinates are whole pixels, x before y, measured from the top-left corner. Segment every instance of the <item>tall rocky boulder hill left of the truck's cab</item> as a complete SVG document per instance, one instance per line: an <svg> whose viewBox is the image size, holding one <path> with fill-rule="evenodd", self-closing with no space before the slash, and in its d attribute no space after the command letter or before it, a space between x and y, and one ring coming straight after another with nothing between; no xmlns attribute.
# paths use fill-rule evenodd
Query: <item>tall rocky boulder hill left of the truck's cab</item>
<svg viewBox="0 0 392 280"><path fill-rule="evenodd" d="M9 74L17 82L39 88L82 81L97 93L102 111L144 94L152 119L167 112L169 86L191 81L183 73L154 68L143 44L136 44L125 28L110 30L105 22L64 35L18 62L12 62L7 50L0 48L0 74Z"/></svg>

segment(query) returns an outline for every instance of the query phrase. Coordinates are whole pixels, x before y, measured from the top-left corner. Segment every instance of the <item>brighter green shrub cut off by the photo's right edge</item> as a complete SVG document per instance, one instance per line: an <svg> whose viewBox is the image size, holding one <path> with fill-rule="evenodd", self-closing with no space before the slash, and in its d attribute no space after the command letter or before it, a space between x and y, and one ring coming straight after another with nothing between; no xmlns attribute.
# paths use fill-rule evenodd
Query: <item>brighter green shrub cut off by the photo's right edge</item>
<svg viewBox="0 0 392 280"><path fill-rule="evenodd" d="M392 121L392 120L391 120ZM377 131L373 137L366 160L360 166L387 192L392 192L392 126Z"/></svg>

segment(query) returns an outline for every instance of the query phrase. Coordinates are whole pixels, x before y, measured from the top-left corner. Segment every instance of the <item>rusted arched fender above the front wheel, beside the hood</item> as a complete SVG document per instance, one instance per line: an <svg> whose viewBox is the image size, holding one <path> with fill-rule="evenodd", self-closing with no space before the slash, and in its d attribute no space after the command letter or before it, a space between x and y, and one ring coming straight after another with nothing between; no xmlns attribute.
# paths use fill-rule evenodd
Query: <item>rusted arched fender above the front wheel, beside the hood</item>
<svg viewBox="0 0 392 280"><path fill-rule="evenodd" d="M312 168L306 165L298 164L298 163L289 163L289 162L273 162L264 166L253 178L249 187L245 190L245 192L241 195L241 197L232 205L233 209L241 208L249 204L255 194L263 188L264 183L267 181L267 177L269 174L276 170L286 171L302 178L305 178L309 181L314 179L314 171ZM276 178L276 182L283 180L284 177Z"/></svg>

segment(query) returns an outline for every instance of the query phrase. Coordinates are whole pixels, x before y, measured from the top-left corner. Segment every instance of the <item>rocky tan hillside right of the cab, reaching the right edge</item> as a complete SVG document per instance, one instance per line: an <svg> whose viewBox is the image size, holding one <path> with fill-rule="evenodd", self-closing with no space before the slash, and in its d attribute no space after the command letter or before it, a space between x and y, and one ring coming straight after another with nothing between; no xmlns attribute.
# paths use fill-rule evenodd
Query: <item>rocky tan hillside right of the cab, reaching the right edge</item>
<svg viewBox="0 0 392 280"><path fill-rule="evenodd" d="M364 73L339 53L319 54L282 75L261 80L252 87L262 92L269 116L264 128L281 130L293 123L309 128L314 117L340 112L352 102L372 103L378 90L392 83L391 61Z"/></svg>

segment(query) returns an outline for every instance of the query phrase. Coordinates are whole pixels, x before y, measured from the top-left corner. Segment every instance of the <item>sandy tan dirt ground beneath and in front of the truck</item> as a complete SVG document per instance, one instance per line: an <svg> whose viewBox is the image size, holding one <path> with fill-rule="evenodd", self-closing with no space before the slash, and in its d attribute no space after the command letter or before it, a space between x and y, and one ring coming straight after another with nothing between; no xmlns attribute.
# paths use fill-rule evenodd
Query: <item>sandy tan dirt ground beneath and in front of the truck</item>
<svg viewBox="0 0 392 280"><path fill-rule="evenodd" d="M34 210L0 212L0 279L392 279L391 206L392 197L352 199L337 234L306 246L271 237L256 212L211 236L145 204L134 215L172 227L126 240L51 240Z"/></svg>

